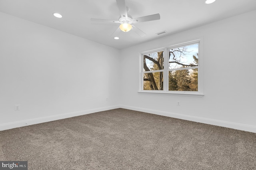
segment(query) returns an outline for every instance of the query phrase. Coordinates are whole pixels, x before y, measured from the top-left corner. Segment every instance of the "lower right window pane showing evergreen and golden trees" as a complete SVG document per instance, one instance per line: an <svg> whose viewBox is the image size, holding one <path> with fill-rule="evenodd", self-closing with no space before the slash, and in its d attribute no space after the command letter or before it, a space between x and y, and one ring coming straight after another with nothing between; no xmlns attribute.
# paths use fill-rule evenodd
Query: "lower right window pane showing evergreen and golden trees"
<svg viewBox="0 0 256 170"><path fill-rule="evenodd" d="M198 69L169 71L169 91L198 91Z"/></svg>

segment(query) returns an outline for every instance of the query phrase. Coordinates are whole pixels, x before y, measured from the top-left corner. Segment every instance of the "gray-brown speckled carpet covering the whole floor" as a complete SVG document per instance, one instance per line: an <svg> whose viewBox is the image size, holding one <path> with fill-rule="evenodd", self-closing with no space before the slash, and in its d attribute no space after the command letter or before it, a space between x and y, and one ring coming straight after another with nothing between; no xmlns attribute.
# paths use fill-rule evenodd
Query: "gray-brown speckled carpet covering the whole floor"
<svg viewBox="0 0 256 170"><path fill-rule="evenodd" d="M256 133L114 109L0 131L29 170L255 170Z"/></svg>

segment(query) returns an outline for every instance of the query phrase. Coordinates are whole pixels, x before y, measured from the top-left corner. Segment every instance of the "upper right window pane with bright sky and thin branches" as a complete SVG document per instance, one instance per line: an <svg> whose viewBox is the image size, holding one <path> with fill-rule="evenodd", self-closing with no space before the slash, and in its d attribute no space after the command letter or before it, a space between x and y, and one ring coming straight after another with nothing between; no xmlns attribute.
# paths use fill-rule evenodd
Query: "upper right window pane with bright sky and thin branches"
<svg viewBox="0 0 256 170"><path fill-rule="evenodd" d="M169 49L169 69L198 66L198 43Z"/></svg>

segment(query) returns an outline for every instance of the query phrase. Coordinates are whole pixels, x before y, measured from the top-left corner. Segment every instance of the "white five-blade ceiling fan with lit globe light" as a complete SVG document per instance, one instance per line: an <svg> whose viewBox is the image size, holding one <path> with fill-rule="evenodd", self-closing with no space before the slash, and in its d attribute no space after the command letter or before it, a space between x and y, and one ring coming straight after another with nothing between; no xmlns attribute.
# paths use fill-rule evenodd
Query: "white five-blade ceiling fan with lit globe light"
<svg viewBox="0 0 256 170"><path fill-rule="evenodd" d="M160 20L160 14L153 14L148 16L142 16L139 18L132 18L132 16L128 15L129 8L126 7L125 0L116 0L120 17L118 20L104 20L104 19L96 19L91 18L93 22L110 22L110 23L120 23L120 26L117 30L112 34L115 35L117 32L122 30L123 32L128 32L130 30L134 30L138 35L145 36L146 34L131 24L136 24L137 22L146 22L146 21L153 21L153 20Z"/></svg>

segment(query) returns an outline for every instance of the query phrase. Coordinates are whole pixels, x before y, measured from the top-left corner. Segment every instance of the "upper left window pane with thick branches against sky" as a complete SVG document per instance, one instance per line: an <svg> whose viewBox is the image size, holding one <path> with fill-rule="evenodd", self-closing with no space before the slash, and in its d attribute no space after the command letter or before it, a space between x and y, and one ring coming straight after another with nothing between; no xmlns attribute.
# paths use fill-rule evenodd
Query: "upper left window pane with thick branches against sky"
<svg viewBox="0 0 256 170"><path fill-rule="evenodd" d="M164 51L143 55L144 71L164 69Z"/></svg>

